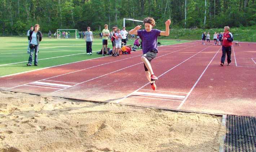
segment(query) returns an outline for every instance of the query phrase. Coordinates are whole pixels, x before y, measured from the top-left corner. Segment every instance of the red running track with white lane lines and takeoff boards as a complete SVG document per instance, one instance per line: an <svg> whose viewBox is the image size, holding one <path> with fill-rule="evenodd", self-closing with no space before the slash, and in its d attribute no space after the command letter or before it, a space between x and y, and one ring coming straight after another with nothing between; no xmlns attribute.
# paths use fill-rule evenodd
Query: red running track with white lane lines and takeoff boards
<svg viewBox="0 0 256 152"><path fill-rule="evenodd" d="M152 61L155 75L159 77L157 91L151 90L146 80L141 51L2 77L0 89L87 101L255 116L254 45L241 43L234 47L232 61L235 62L224 67L219 66L220 46L189 42L159 47L158 57Z"/></svg>

